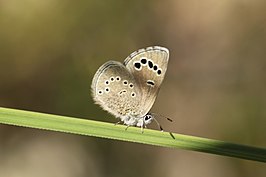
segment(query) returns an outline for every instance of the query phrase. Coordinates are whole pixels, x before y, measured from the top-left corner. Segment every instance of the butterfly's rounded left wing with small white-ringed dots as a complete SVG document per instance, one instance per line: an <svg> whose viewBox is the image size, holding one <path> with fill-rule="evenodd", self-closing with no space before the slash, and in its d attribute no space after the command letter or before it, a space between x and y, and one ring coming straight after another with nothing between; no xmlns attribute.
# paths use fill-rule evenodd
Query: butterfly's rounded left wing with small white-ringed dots
<svg viewBox="0 0 266 177"><path fill-rule="evenodd" d="M122 121L140 114L139 86L122 63L103 64L94 75L91 88L95 102Z"/></svg>

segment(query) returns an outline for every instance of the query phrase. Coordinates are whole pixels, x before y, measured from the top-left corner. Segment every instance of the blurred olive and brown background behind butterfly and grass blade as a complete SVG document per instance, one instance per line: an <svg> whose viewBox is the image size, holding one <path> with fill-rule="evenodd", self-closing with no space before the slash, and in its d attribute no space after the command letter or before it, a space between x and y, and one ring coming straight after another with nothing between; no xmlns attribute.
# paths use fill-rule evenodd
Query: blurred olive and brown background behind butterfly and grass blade
<svg viewBox="0 0 266 177"><path fill-rule="evenodd" d="M116 122L95 105L98 67L169 48L152 108L176 133L266 147L266 3L0 1L0 106ZM153 127L153 126L151 126ZM2 177L262 177L259 162L0 125Z"/></svg>

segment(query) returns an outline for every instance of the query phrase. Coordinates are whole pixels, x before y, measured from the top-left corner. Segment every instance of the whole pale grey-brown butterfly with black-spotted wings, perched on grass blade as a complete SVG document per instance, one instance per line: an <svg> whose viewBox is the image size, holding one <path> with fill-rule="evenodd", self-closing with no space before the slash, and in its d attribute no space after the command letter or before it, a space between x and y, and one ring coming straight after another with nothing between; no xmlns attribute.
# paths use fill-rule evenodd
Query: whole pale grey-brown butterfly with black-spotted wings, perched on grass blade
<svg viewBox="0 0 266 177"><path fill-rule="evenodd" d="M128 126L144 127L168 65L169 51L154 46L129 55L124 64L104 63L92 81L94 101Z"/></svg>

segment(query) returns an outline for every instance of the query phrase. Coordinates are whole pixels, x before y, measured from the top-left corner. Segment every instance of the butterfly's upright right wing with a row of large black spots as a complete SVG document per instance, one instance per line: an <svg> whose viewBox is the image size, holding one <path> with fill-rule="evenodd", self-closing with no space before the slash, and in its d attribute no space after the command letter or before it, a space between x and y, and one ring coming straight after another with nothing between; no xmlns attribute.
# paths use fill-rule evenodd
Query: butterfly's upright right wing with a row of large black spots
<svg viewBox="0 0 266 177"><path fill-rule="evenodd" d="M154 46L133 52L124 61L143 95L139 102L140 116L145 116L153 106L167 70L168 58L168 49Z"/></svg>

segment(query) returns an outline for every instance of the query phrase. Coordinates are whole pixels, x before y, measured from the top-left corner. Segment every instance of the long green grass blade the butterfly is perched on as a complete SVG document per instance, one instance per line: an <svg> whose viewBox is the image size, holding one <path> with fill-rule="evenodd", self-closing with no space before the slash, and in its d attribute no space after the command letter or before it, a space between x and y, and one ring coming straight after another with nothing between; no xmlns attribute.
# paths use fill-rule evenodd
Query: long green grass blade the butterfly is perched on
<svg viewBox="0 0 266 177"><path fill-rule="evenodd" d="M30 111L15 110L0 107L0 123L31 127L58 132L66 132L87 136L109 138L115 140L143 143L161 147L187 149L223 156L266 162L266 149L239 144L233 144L207 138L193 137L156 130L114 125L99 121L85 120L74 117L58 116Z"/></svg>

